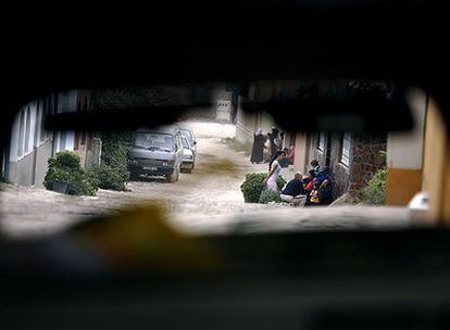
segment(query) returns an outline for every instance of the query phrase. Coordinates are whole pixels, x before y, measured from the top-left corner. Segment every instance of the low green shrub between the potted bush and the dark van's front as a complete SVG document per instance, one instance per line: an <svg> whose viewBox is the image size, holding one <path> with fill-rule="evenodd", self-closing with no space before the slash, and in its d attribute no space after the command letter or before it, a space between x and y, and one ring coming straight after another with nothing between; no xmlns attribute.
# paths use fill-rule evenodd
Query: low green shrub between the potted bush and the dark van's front
<svg viewBox="0 0 450 330"><path fill-rule="evenodd" d="M129 179L129 172L124 166L95 166L87 174L91 178L91 181L101 189L124 191L126 190L125 183Z"/></svg>

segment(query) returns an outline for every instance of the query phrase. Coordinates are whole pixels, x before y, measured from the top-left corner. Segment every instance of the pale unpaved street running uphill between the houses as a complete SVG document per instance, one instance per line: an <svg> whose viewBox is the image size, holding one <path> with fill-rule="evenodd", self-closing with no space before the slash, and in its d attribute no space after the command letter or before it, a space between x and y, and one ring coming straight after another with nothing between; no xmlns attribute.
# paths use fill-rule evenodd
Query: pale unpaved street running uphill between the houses
<svg viewBox="0 0 450 330"><path fill-rule="evenodd" d="M233 137L233 125L186 123L198 139L196 168L176 183L143 179L128 183L127 192L100 190L97 196L70 196L42 189L2 186L1 226L13 237L51 233L98 214L128 205L159 203L170 218L192 232L314 230L408 226L401 207L313 207L246 204L240 192L245 175L265 172L243 153L223 142ZM292 169L282 175L291 178Z"/></svg>

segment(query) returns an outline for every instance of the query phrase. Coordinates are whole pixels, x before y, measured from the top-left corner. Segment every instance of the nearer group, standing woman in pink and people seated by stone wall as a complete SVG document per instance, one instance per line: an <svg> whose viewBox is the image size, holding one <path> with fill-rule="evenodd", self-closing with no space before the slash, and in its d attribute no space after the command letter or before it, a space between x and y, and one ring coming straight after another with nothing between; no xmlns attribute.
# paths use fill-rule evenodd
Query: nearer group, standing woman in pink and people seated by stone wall
<svg viewBox="0 0 450 330"><path fill-rule="evenodd" d="M280 162L286 157L285 151L277 151L268 165L268 174L263 185L267 189L278 191ZM333 181L327 168L321 168L316 160L311 161L311 169L307 175L297 172L282 190L280 198L295 205L328 205L333 201Z"/></svg>

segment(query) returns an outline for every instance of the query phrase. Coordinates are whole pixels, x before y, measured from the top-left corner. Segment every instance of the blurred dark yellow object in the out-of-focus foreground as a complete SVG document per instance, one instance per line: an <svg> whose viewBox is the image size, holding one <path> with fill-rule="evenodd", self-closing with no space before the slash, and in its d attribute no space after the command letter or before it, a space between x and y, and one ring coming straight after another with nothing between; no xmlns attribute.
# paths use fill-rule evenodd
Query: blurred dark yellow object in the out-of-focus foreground
<svg viewBox="0 0 450 330"><path fill-rule="evenodd" d="M73 234L118 269L186 274L217 267L212 246L175 229L158 205L89 220Z"/></svg>

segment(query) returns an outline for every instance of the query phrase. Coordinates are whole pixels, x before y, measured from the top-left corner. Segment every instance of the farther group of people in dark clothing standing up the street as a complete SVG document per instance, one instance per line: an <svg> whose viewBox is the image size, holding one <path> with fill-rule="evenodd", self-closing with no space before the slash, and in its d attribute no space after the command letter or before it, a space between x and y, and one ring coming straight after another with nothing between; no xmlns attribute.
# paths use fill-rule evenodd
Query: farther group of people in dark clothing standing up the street
<svg viewBox="0 0 450 330"><path fill-rule="evenodd" d="M282 167L288 167L289 164L293 164L295 148L290 145L283 149L284 132L279 132L276 127L272 127L272 131L267 132L267 135L263 135L261 127L259 127L253 138L250 157L252 164L273 162L279 151L284 151L286 155L279 163Z"/></svg>

